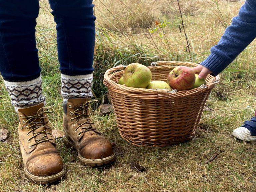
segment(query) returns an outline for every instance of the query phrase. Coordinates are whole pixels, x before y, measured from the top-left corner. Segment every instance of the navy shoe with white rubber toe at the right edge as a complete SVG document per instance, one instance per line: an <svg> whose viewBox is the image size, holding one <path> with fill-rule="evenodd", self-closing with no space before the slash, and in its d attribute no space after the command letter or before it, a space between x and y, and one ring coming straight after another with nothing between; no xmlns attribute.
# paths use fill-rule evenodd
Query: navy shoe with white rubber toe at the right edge
<svg viewBox="0 0 256 192"><path fill-rule="evenodd" d="M236 128L232 134L243 141L256 141L256 117L251 118L250 121L245 121L244 125Z"/></svg>

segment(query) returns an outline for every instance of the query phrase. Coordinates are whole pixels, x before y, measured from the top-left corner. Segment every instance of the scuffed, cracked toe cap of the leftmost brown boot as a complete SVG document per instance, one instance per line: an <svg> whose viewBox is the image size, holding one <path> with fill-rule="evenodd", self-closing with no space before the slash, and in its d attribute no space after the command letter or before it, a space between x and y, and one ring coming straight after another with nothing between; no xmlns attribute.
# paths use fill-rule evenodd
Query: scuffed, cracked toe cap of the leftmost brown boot
<svg viewBox="0 0 256 192"><path fill-rule="evenodd" d="M27 170L32 175L47 177L58 174L64 168L59 154L47 154L31 159L27 164Z"/></svg>

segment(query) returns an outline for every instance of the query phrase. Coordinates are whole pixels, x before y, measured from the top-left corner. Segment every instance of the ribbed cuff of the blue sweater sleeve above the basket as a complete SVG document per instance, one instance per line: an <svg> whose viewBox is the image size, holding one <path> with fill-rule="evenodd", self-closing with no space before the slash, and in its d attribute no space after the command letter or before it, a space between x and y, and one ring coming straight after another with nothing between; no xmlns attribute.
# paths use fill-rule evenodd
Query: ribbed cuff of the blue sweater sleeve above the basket
<svg viewBox="0 0 256 192"><path fill-rule="evenodd" d="M209 69L215 76L222 72L231 62L212 53L200 65Z"/></svg>

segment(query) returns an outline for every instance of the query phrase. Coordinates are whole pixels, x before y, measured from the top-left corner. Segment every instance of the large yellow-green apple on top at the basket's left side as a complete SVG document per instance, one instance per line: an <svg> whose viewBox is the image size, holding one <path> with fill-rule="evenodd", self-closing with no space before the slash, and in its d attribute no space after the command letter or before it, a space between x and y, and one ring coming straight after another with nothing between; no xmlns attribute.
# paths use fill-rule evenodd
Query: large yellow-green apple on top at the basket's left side
<svg viewBox="0 0 256 192"><path fill-rule="evenodd" d="M151 81L152 73L144 65L131 63L125 68L123 77L127 87L146 88Z"/></svg>

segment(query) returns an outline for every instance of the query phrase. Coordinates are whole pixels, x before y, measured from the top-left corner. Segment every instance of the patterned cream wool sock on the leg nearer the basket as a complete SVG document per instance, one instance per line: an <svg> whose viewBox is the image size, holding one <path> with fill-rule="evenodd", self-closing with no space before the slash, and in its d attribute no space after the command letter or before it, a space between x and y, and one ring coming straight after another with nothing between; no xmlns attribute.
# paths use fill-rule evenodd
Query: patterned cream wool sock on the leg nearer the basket
<svg viewBox="0 0 256 192"><path fill-rule="evenodd" d="M61 74L61 95L65 100L69 98L92 97L92 73L88 75Z"/></svg>

